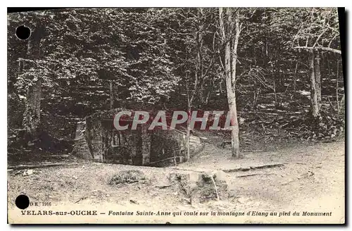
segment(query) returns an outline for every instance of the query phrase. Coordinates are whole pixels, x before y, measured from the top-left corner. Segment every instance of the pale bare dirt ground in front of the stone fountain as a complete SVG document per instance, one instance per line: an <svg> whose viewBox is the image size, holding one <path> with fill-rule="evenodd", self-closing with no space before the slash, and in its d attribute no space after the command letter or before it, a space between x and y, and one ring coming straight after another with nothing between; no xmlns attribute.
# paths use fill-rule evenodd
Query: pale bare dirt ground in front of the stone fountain
<svg viewBox="0 0 352 231"><path fill-rule="evenodd" d="M99 218L86 220L94 223L344 223L344 140L287 144L277 146L271 151L246 151L244 158L233 159L230 149L221 148L212 142L211 137L207 138L206 146L199 155L188 163L175 167L124 166L69 158L70 165L34 168L31 175L24 175L23 169L10 169L9 221L13 219L21 222L49 222L38 218L40 216L20 216L14 201L18 194L24 193L31 201L51 202L50 209L54 211L59 208L96 208L100 212L106 212L106 215ZM262 168L265 166L272 168ZM258 169L250 169L256 167ZM241 170L238 170L239 168ZM142 170L146 175L146 182L135 182L120 187L108 185L108 180L118 171L133 169ZM230 190L228 200L189 204L189 199L173 187L168 187L170 173L189 173L191 182L194 183L199 172L210 173L215 170L226 172ZM28 209L49 208L30 206ZM284 217L108 216L108 211L291 213L290 216ZM292 216L294 211L301 214L303 211L332 212L332 216L295 217ZM60 219L60 222L65 223L72 221L73 217L65 216ZM82 223L84 220L82 216L76 217L75 222Z"/></svg>

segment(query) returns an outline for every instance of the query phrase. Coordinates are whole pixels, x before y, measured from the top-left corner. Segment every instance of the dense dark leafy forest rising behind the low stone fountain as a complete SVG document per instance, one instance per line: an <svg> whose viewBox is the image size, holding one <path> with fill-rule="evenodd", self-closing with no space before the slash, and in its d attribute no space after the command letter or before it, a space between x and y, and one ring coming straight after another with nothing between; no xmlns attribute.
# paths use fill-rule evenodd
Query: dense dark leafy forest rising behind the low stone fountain
<svg viewBox="0 0 352 231"><path fill-rule="evenodd" d="M70 154L77 121L113 108L230 111L234 158L344 136L337 8L26 11L8 13L7 41L10 162Z"/></svg>

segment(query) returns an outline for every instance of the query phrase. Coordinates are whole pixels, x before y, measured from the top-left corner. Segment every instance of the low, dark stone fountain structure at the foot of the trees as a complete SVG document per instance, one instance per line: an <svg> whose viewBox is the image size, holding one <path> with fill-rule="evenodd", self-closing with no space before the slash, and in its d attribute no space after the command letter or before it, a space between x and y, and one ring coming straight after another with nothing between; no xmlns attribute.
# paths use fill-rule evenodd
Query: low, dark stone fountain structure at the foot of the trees
<svg viewBox="0 0 352 231"><path fill-rule="evenodd" d="M121 163L135 166L171 166L185 161L186 133L180 130L118 131L113 116L122 111L115 108L87 116L77 123L73 153L84 159L102 163ZM190 156L203 149L201 139L190 137Z"/></svg>

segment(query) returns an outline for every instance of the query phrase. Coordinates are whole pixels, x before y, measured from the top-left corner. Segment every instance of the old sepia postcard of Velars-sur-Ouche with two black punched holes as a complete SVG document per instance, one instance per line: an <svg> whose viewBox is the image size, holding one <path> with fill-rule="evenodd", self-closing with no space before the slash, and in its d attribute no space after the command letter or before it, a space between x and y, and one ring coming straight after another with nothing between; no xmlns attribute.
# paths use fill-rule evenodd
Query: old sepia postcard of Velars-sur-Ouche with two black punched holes
<svg viewBox="0 0 352 231"><path fill-rule="evenodd" d="M8 11L8 223L344 224L343 19Z"/></svg>

